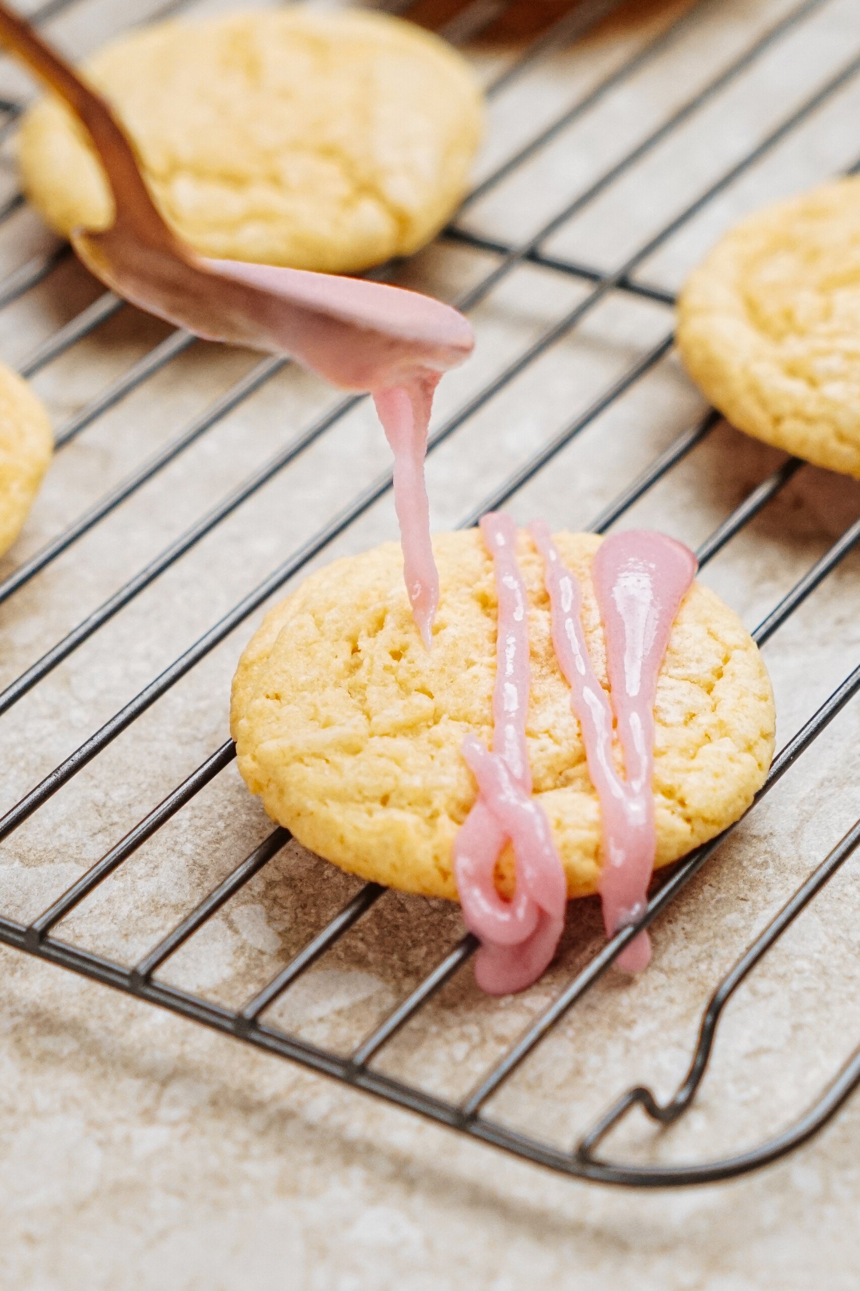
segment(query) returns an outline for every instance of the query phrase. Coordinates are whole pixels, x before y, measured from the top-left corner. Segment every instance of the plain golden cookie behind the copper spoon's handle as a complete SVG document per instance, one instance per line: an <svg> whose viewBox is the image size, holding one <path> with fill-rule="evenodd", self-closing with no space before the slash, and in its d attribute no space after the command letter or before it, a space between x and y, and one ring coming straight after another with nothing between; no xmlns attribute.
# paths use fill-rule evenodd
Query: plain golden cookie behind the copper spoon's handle
<svg viewBox="0 0 860 1291"><path fill-rule="evenodd" d="M461 56L378 13L167 22L106 45L85 71L168 223L218 259L353 272L407 256L456 208L482 133ZM111 225L99 163L58 99L27 112L19 161L58 232Z"/></svg>

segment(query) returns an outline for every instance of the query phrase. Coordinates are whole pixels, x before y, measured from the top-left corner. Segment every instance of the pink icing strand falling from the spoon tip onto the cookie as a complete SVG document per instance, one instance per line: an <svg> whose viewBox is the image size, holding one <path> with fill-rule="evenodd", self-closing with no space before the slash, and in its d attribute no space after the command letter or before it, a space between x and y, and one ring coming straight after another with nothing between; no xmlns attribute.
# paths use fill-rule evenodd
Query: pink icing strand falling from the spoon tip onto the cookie
<svg viewBox="0 0 860 1291"><path fill-rule="evenodd" d="M377 390L376 411L394 453L394 507L400 524L403 577L412 617L430 649L439 605L439 573L430 542L430 503L424 478L427 427L439 373L416 377L409 385Z"/></svg>

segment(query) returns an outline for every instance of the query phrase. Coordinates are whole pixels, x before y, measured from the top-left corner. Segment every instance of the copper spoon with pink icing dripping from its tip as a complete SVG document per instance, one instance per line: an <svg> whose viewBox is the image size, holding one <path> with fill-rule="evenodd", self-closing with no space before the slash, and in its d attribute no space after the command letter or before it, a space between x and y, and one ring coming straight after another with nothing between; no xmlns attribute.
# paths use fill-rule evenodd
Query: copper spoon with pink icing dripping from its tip
<svg viewBox="0 0 860 1291"><path fill-rule="evenodd" d="M429 643L438 578L422 461L433 391L474 347L467 320L449 305L384 283L195 254L161 218L134 147L105 99L5 4L0 41L66 101L101 159L114 225L71 235L101 281L205 340L289 354L337 386L374 394L395 454L409 599Z"/></svg>

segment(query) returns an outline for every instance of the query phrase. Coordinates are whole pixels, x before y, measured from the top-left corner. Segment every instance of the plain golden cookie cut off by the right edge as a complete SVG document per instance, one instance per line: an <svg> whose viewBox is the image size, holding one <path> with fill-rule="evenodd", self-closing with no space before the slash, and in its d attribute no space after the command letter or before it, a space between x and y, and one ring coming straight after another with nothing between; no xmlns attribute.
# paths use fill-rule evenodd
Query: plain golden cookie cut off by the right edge
<svg viewBox="0 0 860 1291"><path fill-rule="evenodd" d="M860 476L860 178L723 238L681 294L678 347L732 425Z"/></svg>

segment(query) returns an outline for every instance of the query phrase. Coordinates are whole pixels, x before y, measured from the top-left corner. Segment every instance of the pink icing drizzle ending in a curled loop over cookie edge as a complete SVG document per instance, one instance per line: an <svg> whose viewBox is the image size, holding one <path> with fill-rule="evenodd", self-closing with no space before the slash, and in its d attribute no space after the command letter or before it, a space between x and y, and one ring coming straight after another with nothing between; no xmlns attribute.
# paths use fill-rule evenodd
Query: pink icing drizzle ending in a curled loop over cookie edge
<svg viewBox="0 0 860 1291"><path fill-rule="evenodd" d="M505 515L480 522L496 567L498 627L493 751L475 736L462 753L479 795L455 839L457 891L466 926L480 937L478 985L492 995L524 990L548 967L564 927L567 882L549 824L532 798L526 746L531 669L528 602L517 563L517 529ZM517 860L511 901L498 896L495 869L510 839Z"/></svg>

